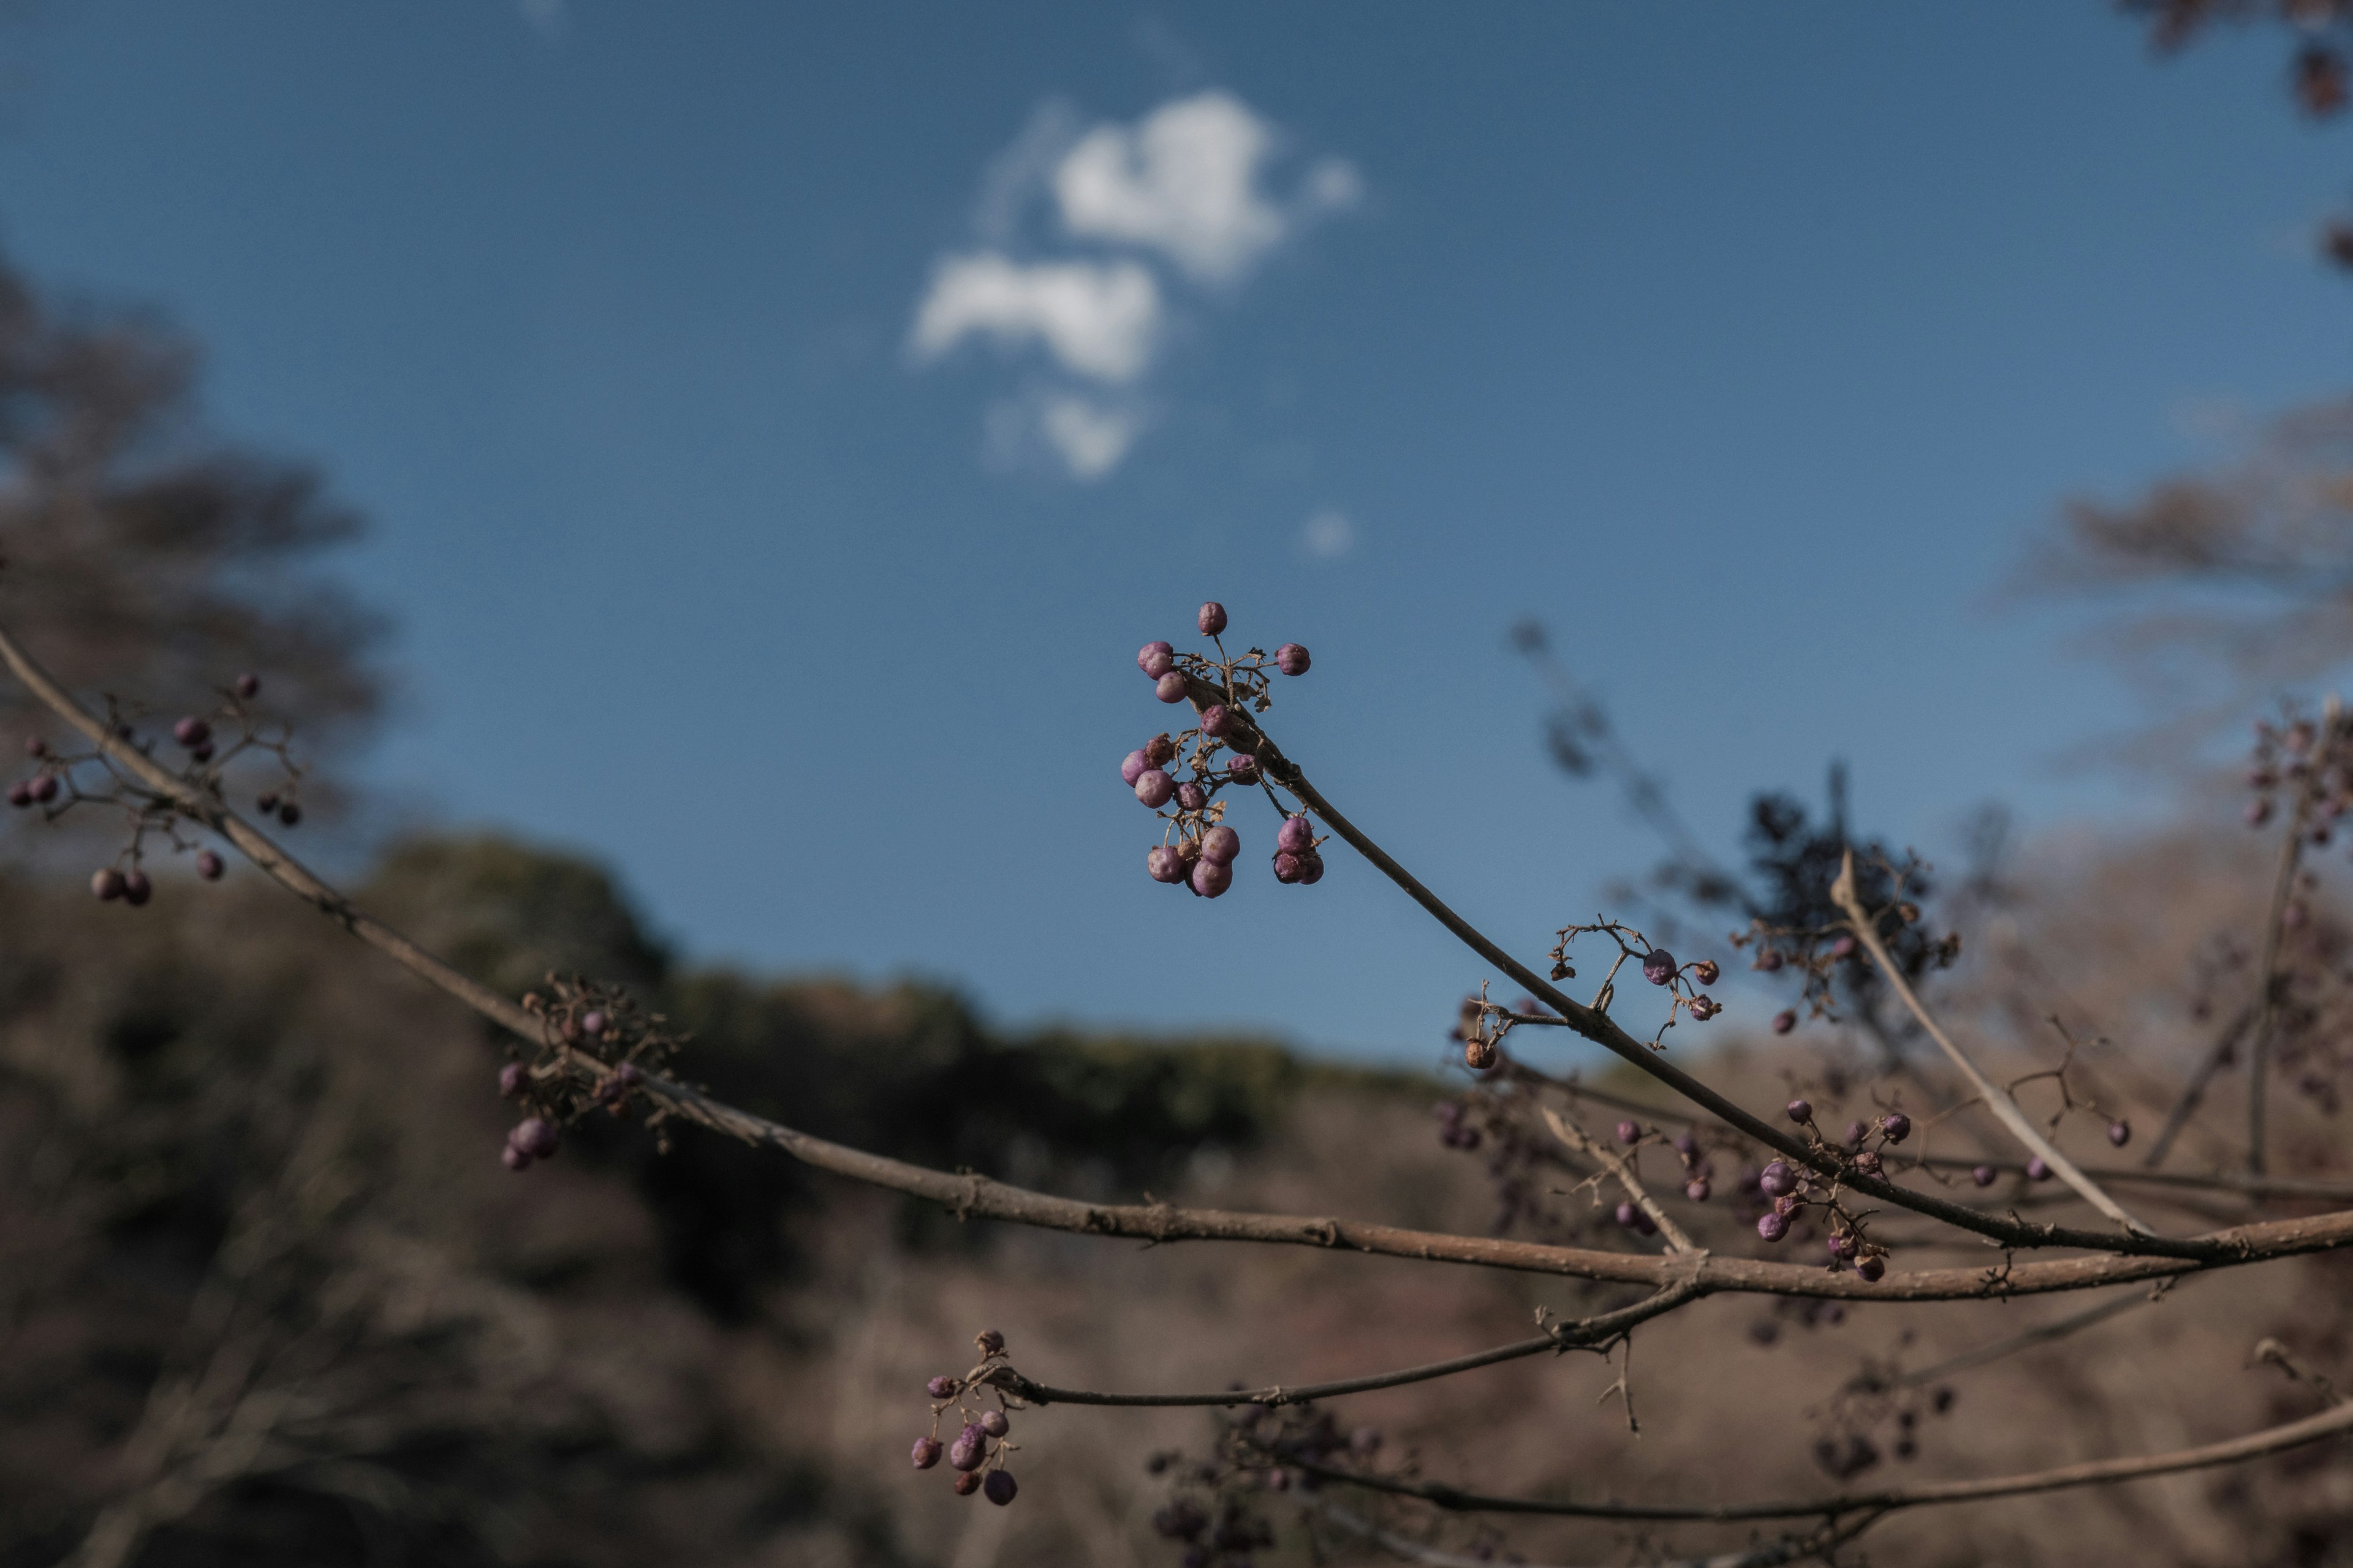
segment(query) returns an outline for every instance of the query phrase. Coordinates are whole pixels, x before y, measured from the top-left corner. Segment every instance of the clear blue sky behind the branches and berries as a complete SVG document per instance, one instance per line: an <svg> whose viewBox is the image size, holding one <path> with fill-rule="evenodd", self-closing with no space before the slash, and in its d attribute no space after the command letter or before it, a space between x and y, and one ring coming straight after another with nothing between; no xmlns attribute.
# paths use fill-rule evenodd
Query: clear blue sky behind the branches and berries
<svg viewBox="0 0 2353 1568"><path fill-rule="evenodd" d="M2066 494L2341 390L2353 136L2275 35L1972 7L73 5L0 237L320 463L400 625L369 778L661 931L1009 1023L1426 1058L1482 976L1372 872L1144 877L1132 665L1271 726L1525 952L1652 844L1551 773L1546 616L1685 813L1854 764L1937 853L2132 722L1995 588ZM1139 282L1141 280L1141 282ZM934 301L939 301L934 306ZM934 306L929 327L925 310Z"/></svg>

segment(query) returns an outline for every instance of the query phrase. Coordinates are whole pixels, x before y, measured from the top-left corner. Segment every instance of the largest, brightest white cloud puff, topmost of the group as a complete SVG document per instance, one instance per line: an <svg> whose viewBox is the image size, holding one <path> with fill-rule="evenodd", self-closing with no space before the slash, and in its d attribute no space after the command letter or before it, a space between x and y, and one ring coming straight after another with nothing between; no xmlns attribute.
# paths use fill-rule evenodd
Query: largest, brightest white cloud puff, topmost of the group
<svg viewBox="0 0 2353 1568"><path fill-rule="evenodd" d="M1167 254L1207 282L1238 277L1289 221L1259 190L1275 132L1240 99L1205 92L1162 103L1134 129L1099 125L1054 169L1073 235Z"/></svg>

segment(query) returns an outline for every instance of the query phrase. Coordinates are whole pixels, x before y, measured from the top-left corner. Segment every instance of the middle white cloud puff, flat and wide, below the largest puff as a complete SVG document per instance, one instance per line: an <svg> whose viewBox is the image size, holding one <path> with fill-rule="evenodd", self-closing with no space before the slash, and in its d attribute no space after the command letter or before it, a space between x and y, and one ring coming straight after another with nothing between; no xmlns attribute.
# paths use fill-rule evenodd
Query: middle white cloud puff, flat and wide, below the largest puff
<svg viewBox="0 0 2353 1568"><path fill-rule="evenodd" d="M967 336L1040 341L1064 369L1134 381L1160 336L1160 284L1134 261L1040 261L995 252L948 256L915 313L911 346L936 360Z"/></svg>

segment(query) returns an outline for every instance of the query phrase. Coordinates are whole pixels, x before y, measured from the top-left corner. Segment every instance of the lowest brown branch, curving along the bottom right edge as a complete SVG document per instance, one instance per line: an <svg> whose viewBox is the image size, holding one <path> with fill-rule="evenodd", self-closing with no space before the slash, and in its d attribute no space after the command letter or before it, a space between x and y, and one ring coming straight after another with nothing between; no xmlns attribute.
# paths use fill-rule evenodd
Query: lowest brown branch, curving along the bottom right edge
<svg viewBox="0 0 2353 1568"><path fill-rule="evenodd" d="M1922 1486L1897 1486L1878 1493L1842 1493L1835 1497L1805 1497L1781 1502L1722 1502L1722 1505L1671 1505L1671 1502L1567 1502L1548 1497L1489 1497L1466 1493L1435 1481L1393 1481L1388 1476L1329 1469L1313 1460L1285 1458L1308 1474L1327 1481L1344 1481L1365 1490L1391 1493L1395 1497L1419 1497L1454 1514L1560 1514L1569 1519L1671 1519L1687 1523L1741 1523L1753 1519L1838 1519L1864 1509L1892 1512L1908 1507L1941 1507L1948 1502L1986 1502L1991 1497L2024 1497L2028 1493L2057 1493L2075 1486L2108 1486L2115 1481L2141 1481L2148 1476L2172 1476L2184 1469L2214 1469L2219 1465L2242 1465L2287 1448L2301 1448L2353 1429L2353 1403L2332 1406L2318 1415L2264 1427L2247 1436L2172 1453L2151 1453L2129 1460L2089 1460L2085 1465L2059 1465L2021 1476L1991 1476L1986 1481L1927 1481Z"/></svg>

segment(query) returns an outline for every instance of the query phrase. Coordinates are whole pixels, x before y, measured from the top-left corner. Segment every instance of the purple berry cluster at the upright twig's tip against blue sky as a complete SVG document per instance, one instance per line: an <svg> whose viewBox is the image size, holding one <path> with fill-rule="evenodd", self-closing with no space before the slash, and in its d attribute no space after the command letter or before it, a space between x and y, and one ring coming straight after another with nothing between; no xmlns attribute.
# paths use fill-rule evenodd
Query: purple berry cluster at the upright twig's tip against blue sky
<svg viewBox="0 0 2353 1568"><path fill-rule="evenodd" d="M1226 630L1226 607L1202 604L1198 625L1205 637L1214 639ZM1151 677L1153 693L1162 703L1186 701L1193 682L1224 698L1209 701L1200 710L1195 729L1174 738L1153 736L1120 762L1120 783L1134 790L1146 809L1160 813L1174 835L1144 856L1144 872L1153 882L1188 886L1198 898L1219 898L1233 886L1233 863L1242 853L1242 835L1224 820L1226 806L1217 797L1226 788L1247 790L1264 783L1247 712L1266 712L1268 708L1266 670L1306 675L1308 651L1297 642L1285 642L1271 661L1259 649L1249 649L1242 658L1226 658L1224 644L1219 644L1219 658L1209 661L1200 654L1179 654L1167 642L1146 642L1136 651L1136 668ZM1186 743L1191 743L1191 755L1184 755ZM1224 764L1219 764L1219 752L1231 752ZM1172 771L1179 757L1186 762L1186 778L1176 778ZM1174 811L1167 811L1169 806ZM1285 816L1275 832L1275 882L1308 886L1322 882L1325 865L1315 846L1318 837L1308 818Z"/></svg>

